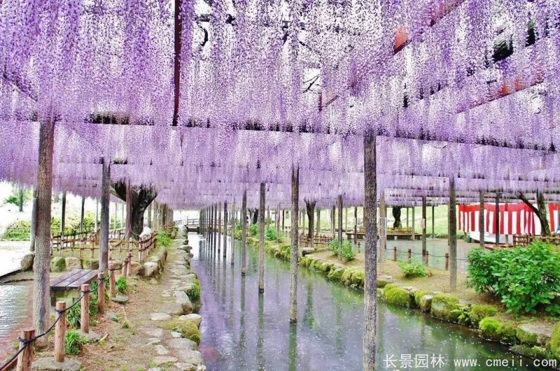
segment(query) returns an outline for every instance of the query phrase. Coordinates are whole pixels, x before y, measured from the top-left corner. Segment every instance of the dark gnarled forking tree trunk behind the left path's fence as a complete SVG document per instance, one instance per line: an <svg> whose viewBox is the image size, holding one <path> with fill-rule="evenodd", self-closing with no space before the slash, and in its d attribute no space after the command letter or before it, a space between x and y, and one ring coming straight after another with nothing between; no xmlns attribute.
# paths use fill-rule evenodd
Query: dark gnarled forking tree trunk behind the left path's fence
<svg viewBox="0 0 560 371"><path fill-rule="evenodd" d="M112 193L125 202L127 202L127 194L130 195L130 210L127 210L129 213L127 218L130 219L132 238L137 239L144 228L144 211L158 196L158 192L155 188L146 186L131 186L130 191L127 192L127 182L121 181L113 184Z"/></svg>

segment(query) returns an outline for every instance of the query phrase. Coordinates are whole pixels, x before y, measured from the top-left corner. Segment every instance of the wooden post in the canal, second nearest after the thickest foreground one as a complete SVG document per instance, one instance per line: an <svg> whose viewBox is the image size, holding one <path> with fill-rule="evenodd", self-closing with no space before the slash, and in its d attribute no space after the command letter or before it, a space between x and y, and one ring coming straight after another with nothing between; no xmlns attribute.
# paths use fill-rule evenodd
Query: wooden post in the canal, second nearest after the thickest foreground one
<svg viewBox="0 0 560 371"><path fill-rule="evenodd" d="M297 263L298 263L298 247L299 240L299 220L297 216L300 214L300 167L292 166L292 245L290 256L290 322L297 321Z"/></svg>

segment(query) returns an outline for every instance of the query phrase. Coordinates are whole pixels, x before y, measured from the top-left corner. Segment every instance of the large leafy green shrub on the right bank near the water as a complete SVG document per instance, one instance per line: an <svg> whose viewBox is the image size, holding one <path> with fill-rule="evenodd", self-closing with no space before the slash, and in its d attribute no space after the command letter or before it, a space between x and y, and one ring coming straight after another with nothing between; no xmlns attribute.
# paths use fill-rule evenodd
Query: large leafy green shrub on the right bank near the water
<svg viewBox="0 0 560 371"><path fill-rule="evenodd" d="M469 282L478 293L491 292L514 314L535 313L545 307L549 314L560 314L553 303L560 292L560 255L542 242L527 247L468 254Z"/></svg>

